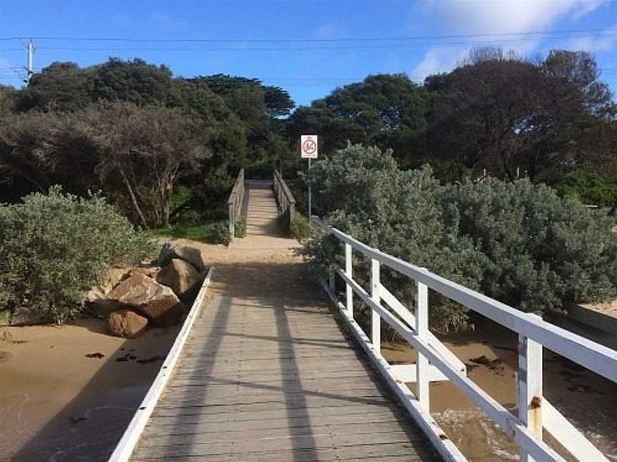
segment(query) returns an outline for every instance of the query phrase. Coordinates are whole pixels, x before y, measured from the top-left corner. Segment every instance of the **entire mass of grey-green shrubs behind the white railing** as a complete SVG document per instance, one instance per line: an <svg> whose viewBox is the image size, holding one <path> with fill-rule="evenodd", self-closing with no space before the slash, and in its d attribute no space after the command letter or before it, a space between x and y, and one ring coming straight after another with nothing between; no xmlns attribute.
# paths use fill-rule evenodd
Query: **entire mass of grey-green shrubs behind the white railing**
<svg viewBox="0 0 617 462"><path fill-rule="evenodd" d="M391 152L350 145L313 165L305 180L328 224L372 247L526 312L617 294L613 223L572 197L528 180L440 185L431 169L399 170ZM316 233L303 250L326 275L343 265L341 242ZM354 252L354 278L370 262ZM408 307L413 284L382 268L382 283ZM431 327L465 327L467 311L431 291ZM359 308L359 307L358 307ZM359 308L368 319L368 309Z"/></svg>

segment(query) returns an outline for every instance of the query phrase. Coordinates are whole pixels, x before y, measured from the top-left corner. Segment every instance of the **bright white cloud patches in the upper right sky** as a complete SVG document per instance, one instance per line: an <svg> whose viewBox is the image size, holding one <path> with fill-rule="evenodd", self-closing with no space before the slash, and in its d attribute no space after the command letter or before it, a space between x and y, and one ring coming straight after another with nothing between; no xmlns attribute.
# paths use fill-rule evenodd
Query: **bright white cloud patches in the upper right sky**
<svg viewBox="0 0 617 462"><path fill-rule="evenodd" d="M426 13L433 16L441 29L449 34L525 34L546 31L565 17L578 19L590 14L610 0L428 0ZM508 39L506 48L525 56L531 53L541 39L525 36ZM486 41L498 38L483 37ZM612 46L608 38L583 40L576 45L588 49ZM611 37L613 39L613 37ZM499 46L499 43L496 43ZM468 54L471 45L433 46L411 71L417 78L431 73L449 71ZM590 50L592 51L592 50Z"/></svg>

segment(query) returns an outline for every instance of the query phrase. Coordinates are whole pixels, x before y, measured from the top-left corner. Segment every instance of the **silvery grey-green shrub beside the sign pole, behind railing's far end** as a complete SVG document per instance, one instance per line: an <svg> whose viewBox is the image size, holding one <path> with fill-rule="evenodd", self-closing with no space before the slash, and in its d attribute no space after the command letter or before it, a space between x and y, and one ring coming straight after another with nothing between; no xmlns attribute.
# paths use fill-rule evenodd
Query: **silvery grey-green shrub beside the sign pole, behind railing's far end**
<svg viewBox="0 0 617 462"><path fill-rule="evenodd" d="M391 151L350 145L327 162L313 164L306 181L316 202L326 210L328 224L383 252L477 289L483 255L458 233L454 214L444 213L438 200L441 186L430 168L399 170ZM318 272L343 266L343 245L316 233L304 245L304 255ZM370 261L354 252L353 277L369 287ZM408 307L413 307L413 283L385 268L381 282ZM467 322L466 309L432 294L431 325L459 329ZM360 322L370 312L358 304Z"/></svg>

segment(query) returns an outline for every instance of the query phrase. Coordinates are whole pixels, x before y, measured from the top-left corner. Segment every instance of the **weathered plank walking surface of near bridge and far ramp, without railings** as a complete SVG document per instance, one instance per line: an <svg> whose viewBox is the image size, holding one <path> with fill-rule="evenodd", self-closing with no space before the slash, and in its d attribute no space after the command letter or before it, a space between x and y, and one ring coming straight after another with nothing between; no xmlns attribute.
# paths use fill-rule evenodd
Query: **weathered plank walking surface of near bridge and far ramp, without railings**
<svg viewBox="0 0 617 462"><path fill-rule="evenodd" d="M247 189L242 245L276 220L274 195ZM217 267L133 460L436 460L336 321L300 262Z"/></svg>

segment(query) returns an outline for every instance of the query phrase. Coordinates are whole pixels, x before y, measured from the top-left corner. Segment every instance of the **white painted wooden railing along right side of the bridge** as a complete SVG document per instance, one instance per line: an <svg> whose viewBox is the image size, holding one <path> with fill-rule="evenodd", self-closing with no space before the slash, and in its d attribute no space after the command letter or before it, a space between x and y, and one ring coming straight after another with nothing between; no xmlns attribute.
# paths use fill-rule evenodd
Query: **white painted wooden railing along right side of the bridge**
<svg viewBox="0 0 617 462"><path fill-rule="evenodd" d="M343 314L343 319L361 346L382 372L403 405L421 426L441 456L448 461L466 461L463 454L441 430L430 414L429 383L449 379L479 406L520 447L521 461L563 461L542 440L546 429L576 459L601 462L608 459L548 402L542 391L543 347L561 354L591 371L617 382L617 351L592 342L565 329L497 302L483 294L433 274L425 268L392 257L325 225L318 217L313 223L341 240L345 246L345 269L331 272L324 288ZM366 292L352 274L353 250L371 259L371 293ZM381 265L404 274L416 284L416 307L411 313L379 280ZM346 284L346 304L334 291L335 274ZM518 416L499 404L486 391L468 379L464 365L428 330L428 289L432 289L488 319L518 333ZM371 308L371 339L353 319L353 292ZM383 306L384 302L390 310ZM394 314L393 314L394 313ZM389 324L416 349L416 364L391 366L380 352L381 321ZM404 382L415 381L413 394Z"/></svg>

